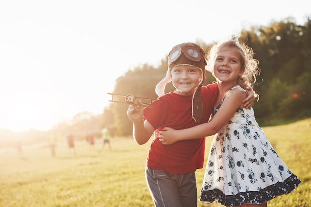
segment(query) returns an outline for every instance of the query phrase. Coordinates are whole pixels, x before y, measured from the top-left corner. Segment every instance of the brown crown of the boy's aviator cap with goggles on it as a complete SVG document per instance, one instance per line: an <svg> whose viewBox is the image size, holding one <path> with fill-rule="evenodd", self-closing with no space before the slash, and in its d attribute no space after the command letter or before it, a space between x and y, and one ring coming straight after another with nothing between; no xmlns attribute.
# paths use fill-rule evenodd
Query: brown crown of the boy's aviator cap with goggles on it
<svg viewBox="0 0 311 207"><path fill-rule="evenodd" d="M175 46L168 53L168 66L193 65L201 69L205 68L205 52L196 44L186 43Z"/></svg>

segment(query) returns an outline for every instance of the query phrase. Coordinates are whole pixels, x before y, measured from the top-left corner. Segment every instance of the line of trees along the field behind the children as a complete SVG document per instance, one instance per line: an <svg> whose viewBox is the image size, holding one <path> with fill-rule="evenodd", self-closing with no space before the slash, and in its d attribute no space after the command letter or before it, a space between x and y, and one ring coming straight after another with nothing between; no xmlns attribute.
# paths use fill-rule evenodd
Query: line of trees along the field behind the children
<svg viewBox="0 0 311 207"><path fill-rule="evenodd" d="M252 26L242 29L238 39L250 46L255 52L254 58L259 60L261 73L254 91L260 98L253 105L259 124L271 125L311 117L311 18L307 17L303 25L296 24L295 19L289 17L280 22L272 21L267 26ZM214 44L199 40L196 43L205 52ZM167 58L162 59L157 67L138 65L116 80L113 93L156 99L156 84L166 71ZM206 73L204 85L215 81L210 72ZM165 88L165 92L173 90L171 83ZM61 134L71 131L83 139L84 132L97 132L104 126L110 128L112 136L130 136L132 122L126 115L127 108L127 104L111 103L102 114L84 111L72 119L60 121L50 131L29 130L18 136L33 142L47 139L52 131ZM0 130L0 138L16 136L9 130ZM0 147L3 145L1 140Z"/></svg>

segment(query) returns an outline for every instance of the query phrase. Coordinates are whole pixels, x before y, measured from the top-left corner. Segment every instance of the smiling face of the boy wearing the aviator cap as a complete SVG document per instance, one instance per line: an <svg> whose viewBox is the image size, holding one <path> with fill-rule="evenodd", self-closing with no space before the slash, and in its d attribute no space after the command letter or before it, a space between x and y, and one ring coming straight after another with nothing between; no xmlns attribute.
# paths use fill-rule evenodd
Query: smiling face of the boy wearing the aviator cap
<svg viewBox="0 0 311 207"><path fill-rule="evenodd" d="M171 69L171 75L174 93L183 96L192 96L202 79L201 70L191 65L177 65Z"/></svg>

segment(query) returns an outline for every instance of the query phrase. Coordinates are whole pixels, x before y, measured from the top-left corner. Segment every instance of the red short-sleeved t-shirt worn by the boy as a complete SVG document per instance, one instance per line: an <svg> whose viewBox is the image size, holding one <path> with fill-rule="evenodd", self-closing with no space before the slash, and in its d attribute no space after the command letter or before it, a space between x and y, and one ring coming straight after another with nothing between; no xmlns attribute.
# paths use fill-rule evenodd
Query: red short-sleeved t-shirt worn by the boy
<svg viewBox="0 0 311 207"><path fill-rule="evenodd" d="M218 97L217 84L202 87L203 117L199 122L192 118L192 96L181 96L173 92L159 97L144 108L144 118L155 128L171 127L186 129L209 121ZM163 145L158 139L150 146L146 165L171 174L184 174L202 168L204 164L205 138L179 141Z"/></svg>

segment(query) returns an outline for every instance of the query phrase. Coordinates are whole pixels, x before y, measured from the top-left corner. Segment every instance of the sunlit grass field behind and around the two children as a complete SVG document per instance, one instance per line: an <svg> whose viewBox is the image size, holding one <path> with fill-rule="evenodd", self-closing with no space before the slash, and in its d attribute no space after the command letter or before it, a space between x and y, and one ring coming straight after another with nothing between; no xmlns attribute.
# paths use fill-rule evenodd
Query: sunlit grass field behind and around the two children
<svg viewBox="0 0 311 207"><path fill-rule="evenodd" d="M311 119L264 127L276 152L303 183L268 207L311 206ZM206 157L212 137L207 138ZM0 207L153 207L146 182L145 160L149 144L133 138L111 139L112 151L90 151L86 142L76 145L71 157L64 140L56 157L48 147L0 151ZM96 143L98 148L100 142ZM204 166L205 168L205 166ZM204 168L196 171L198 192ZM198 202L198 207L221 205Z"/></svg>

